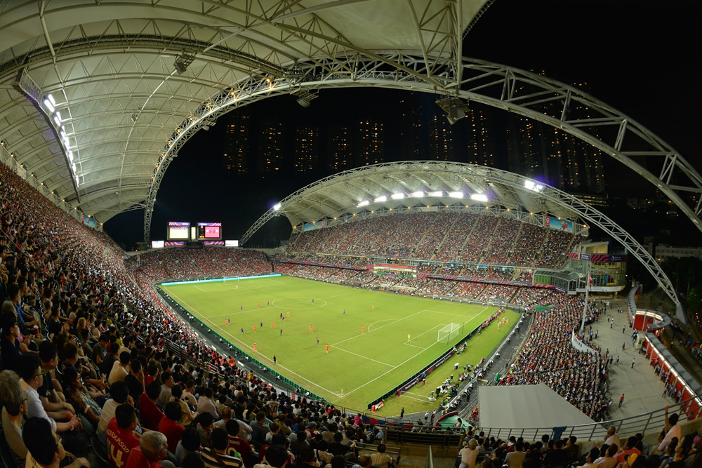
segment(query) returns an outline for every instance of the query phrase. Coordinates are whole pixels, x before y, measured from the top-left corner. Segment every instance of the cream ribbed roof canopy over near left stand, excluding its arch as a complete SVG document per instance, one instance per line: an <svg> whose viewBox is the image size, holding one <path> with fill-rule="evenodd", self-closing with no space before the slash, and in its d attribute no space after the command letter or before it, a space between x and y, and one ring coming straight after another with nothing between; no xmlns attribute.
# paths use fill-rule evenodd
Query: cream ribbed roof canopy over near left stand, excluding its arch
<svg viewBox="0 0 702 468"><path fill-rule="evenodd" d="M105 222L149 206L180 145L216 122L213 97L256 82L312 99L296 88L305 81L298 62L390 63L383 51L443 58L426 66L456 69L463 34L492 1L6 1L0 138L59 199ZM40 101L55 98L62 130L26 86L20 92L23 71Z"/></svg>

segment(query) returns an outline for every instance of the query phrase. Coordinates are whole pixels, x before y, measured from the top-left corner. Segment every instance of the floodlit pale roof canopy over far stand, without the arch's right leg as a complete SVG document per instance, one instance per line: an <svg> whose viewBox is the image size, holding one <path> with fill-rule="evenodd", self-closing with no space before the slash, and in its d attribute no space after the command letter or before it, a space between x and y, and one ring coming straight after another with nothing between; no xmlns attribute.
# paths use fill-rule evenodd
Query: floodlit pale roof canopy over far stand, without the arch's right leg
<svg viewBox="0 0 702 468"><path fill-rule="evenodd" d="M525 181L533 184L527 186ZM296 226L383 208L477 206L503 208L527 215L550 214L582 224L576 210L553 203L544 196L546 188L520 175L485 166L402 161L364 166L324 178L287 196L280 201L279 208L273 208L269 213L283 215ZM551 187L548 189L552 190ZM245 234L241 241L248 239Z"/></svg>

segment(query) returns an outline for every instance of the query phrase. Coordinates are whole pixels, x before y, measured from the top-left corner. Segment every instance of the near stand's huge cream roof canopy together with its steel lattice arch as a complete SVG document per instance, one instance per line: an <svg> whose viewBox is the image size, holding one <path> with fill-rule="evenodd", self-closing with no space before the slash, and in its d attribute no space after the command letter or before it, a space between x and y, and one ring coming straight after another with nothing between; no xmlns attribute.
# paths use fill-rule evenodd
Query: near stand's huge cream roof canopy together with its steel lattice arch
<svg viewBox="0 0 702 468"><path fill-rule="evenodd" d="M493 1L4 1L0 159L98 222L143 209L148 241L169 164L219 116L275 95L310 105L321 88L378 86L435 93L453 119L473 101L571 133L702 230L702 196L690 196L702 177L647 128L573 86L465 56Z"/></svg>

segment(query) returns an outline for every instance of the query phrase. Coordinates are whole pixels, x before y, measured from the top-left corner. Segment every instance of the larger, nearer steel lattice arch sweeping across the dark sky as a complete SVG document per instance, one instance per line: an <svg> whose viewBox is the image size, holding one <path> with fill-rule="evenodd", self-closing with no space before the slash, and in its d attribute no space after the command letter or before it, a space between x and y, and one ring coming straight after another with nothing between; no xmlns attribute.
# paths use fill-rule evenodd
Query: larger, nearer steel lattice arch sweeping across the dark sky
<svg viewBox="0 0 702 468"><path fill-rule="evenodd" d="M460 82L455 79L451 62L444 58L402 52L385 53L382 59L361 53L343 58L343 63L338 57L296 62L286 70L284 78L279 79L248 76L234 83L232 91L213 95L192 116L184 119L164 145L159 167L154 171L144 214L145 240L150 239L154 201L166 168L201 126L234 108L273 95L344 86L378 86L451 95L547 123L631 168L668 196L702 231L702 196L698 196L692 208L678 193L702 193L702 178L688 161L640 123L574 86L472 58L463 58L458 73ZM423 77L424 74L427 76ZM644 156L661 161L659 176L635 161ZM674 181L675 184L671 183Z"/></svg>

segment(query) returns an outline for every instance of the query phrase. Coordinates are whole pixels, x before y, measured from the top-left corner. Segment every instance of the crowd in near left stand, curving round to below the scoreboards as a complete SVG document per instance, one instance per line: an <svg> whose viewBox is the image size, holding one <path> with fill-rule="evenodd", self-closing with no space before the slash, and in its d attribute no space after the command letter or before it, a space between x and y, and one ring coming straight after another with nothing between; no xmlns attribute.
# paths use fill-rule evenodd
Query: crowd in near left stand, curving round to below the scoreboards
<svg viewBox="0 0 702 468"><path fill-rule="evenodd" d="M261 254L168 249L127 260L4 166L0 181L0 400L15 466L365 466L355 444L376 441L376 427L231 366L145 287L168 274L163 265L270 272Z"/></svg>

